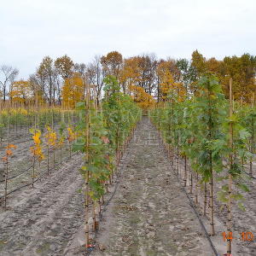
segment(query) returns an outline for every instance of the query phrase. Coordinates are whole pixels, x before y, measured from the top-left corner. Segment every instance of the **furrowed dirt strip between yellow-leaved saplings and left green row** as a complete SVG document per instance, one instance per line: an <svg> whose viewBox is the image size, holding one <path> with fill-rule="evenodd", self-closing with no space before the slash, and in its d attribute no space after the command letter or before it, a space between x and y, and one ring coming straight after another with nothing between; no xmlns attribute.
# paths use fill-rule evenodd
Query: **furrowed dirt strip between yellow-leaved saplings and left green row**
<svg viewBox="0 0 256 256"><path fill-rule="evenodd" d="M1 256L63 255L84 218L80 165L76 156L35 189L9 200L9 211L0 214Z"/></svg>

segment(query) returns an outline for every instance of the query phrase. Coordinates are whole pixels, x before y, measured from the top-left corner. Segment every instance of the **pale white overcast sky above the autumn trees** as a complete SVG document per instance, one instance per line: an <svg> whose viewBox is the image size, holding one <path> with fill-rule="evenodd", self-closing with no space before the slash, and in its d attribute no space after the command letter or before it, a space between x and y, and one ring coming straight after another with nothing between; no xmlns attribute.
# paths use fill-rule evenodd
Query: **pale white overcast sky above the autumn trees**
<svg viewBox="0 0 256 256"><path fill-rule="evenodd" d="M27 79L46 55L256 55L255 25L255 0L0 0L0 66Z"/></svg>

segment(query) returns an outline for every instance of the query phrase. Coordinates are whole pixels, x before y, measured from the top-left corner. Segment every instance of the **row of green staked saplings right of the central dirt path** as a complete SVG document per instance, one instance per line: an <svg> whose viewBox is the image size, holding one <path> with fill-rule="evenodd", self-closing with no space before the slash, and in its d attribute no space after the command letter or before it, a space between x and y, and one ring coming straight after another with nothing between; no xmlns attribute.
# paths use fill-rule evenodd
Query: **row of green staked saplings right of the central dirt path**
<svg viewBox="0 0 256 256"><path fill-rule="evenodd" d="M247 180L253 176L255 148L254 126L256 109L252 104L241 108L233 101L230 79L230 100L226 100L218 80L212 75L203 77L198 90L187 100L180 100L171 93L160 108L150 113L168 149L172 164L183 162L183 185L190 186L192 193L193 173L196 188L203 187L205 200L202 212L207 214L209 195L211 235L215 235L213 183L221 183L218 201L227 209L227 232L232 234L231 206L237 203L245 210L243 192L248 192ZM246 168L249 163L249 170ZM198 201L198 191L195 202ZM231 253L228 236L227 253Z"/></svg>

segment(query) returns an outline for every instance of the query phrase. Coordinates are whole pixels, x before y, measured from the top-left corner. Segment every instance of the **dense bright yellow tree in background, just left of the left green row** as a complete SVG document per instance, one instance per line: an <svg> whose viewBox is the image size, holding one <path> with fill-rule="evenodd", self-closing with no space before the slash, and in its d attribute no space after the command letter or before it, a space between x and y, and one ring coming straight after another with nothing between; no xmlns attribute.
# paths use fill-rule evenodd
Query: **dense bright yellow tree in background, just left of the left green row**
<svg viewBox="0 0 256 256"><path fill-rule="evenodd" d="M78 73L70 79L65 79L62 88L62 104L67 108L74 108L76 102L81 102L84 96L84 80Z"/></svg>

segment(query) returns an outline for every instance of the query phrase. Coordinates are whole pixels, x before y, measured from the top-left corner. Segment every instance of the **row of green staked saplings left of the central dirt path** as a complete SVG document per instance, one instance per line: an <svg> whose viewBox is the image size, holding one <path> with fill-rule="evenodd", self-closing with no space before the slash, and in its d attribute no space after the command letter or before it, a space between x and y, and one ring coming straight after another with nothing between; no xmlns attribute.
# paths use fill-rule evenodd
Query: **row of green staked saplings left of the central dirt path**
<svg viewBox="0 0 256 256"><path fill-rule="evenodd" d="M108 183L112 183L116 166L131 139L141 110L132 101L131 96L120 92L117 80L109 76L105 79L105 98L102 108L90 99L87 88L85 102L77 104L79 119L75 131L78 139L73 150L84 154L84 166L81 168L84 177L85 204L85 247L90 247L90 216L93 218L93 230L96 230L96 215L101 214L103 195L108 192ZM90 203L92 212L90 214Z"/></svg>

